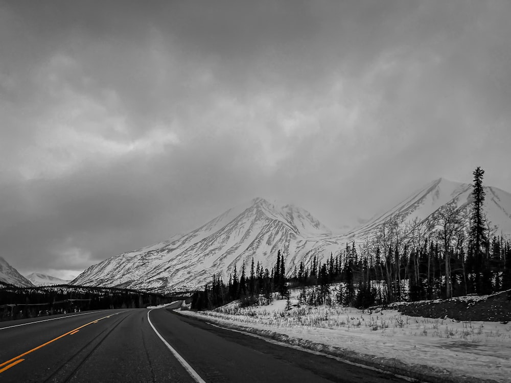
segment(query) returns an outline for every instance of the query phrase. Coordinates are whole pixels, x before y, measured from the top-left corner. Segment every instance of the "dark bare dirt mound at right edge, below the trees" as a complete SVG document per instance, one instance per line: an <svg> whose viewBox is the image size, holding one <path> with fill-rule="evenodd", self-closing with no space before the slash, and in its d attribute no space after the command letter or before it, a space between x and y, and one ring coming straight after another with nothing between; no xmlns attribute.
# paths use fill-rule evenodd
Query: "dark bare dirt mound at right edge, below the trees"
<svg viewBox="0 0 511 383"><path fill-rule="evenodd" d="M446 300L398 303L392 308L413 317L511 322L511 290L483 299L477 296L465 296Z"/></svg>

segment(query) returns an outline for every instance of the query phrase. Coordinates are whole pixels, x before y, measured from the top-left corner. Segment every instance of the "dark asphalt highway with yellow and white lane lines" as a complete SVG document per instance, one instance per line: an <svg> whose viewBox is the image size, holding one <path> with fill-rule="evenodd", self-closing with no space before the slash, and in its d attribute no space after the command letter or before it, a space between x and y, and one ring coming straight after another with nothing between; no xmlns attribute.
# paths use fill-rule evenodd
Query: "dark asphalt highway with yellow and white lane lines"
<svg viewBox="0 0 511 383"><path fill-rule="evenodd" d="M0 322L0 382L405 381L171 308Z"/></svg>

